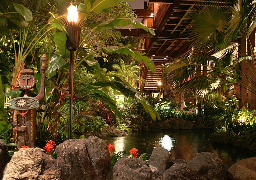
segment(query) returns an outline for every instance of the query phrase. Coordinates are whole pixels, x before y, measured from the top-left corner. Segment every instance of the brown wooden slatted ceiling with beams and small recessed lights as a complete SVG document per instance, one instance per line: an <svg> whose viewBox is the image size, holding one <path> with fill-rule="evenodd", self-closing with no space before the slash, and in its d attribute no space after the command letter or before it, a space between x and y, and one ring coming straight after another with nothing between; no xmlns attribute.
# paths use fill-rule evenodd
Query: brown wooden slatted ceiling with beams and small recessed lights
<svg viewBox="0 0 256 180"><path fill-rule="evenodd" d="M230 6L232 0L217 1L220 6ZM190 53L189 38L186 31L192 19L187 18L187 14L194 10L194 6L205 5L209 0L149 0L145 9L135 9L138 17L144 18L144 24L148 19L153 20L156 36L140 29L119 30L125 36L137 36L138 39L145 39L141 52L155 63L156 73L152 73L145 66L142 77L147 80L148 85L144 87L146 92L157 91L157 81L161 79L161 65L169 63L173 58L187 56ZM216 2L216 1L215 1ZM141 3L143 3L141 1ZM153 17L152 14L154 13ZM186 22L186 23L185 23Z"/></svg>

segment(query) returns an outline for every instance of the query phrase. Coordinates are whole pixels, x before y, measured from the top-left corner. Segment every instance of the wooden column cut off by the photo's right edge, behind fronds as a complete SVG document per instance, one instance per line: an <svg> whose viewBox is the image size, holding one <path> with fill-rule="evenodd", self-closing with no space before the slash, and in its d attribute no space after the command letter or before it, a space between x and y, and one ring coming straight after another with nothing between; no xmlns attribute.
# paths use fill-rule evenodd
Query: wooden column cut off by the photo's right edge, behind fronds
<svg viewBox="0 0 256 180"><path fill-rule="evenodd" d="M249 36L249 40L247 41L247 47L248 47L248 55L252 55L254 53L254 47L255 47L255 29L253 32L251 32ZM253 60L250 62L251 70L248 69L248 76L251 78L251 81L256 82L256 79L254 75L256 75L256 67L254 65ZM250 80L249 80L250 81ZM249 83L250 88L252 87L251 83ZM248 110L256 110L256 95L250 91L248 91Z"/></svg>

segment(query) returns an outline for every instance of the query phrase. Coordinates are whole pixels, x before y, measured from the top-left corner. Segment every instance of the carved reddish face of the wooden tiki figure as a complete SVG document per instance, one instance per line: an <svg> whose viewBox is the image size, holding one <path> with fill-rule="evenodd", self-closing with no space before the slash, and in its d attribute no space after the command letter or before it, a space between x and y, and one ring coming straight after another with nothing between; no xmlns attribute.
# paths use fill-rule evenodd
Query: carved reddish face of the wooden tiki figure
<svg viewBox="0 0 256 180"><path fill-rule="evenodd" d="M34 77L34 71L32 69L23 69L21 70L21 76L18 79L18 85L22 89L31 89L36 84Z"/></svg>

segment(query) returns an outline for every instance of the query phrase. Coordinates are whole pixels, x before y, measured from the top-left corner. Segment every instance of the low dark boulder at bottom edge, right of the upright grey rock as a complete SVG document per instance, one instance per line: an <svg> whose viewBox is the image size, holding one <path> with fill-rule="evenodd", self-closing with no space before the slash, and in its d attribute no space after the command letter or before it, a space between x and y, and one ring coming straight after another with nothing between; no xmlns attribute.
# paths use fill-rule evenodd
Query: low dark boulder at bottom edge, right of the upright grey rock
<svg viewBox="0 0 256 180"><path fill-rule="evenodd" d="M186 164L173 164L163 174L163 180L198 180L196 173Z"/></svg>

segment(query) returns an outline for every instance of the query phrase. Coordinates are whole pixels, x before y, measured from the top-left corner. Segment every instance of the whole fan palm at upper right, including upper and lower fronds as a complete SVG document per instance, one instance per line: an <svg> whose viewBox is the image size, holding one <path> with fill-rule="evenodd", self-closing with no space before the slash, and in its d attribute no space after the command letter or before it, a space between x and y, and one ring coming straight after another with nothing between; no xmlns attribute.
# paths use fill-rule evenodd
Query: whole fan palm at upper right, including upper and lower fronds
<svg viewBox="0 0 256 180"><path fill-rule="evenodd" d="M201 97L215 91L225 93L230 83L256 94L255 53L251 52L251 62L249 56L240 52L240 58L232 61L232 52L239 46L237 40L246 34L249 41L249 35L255 29L255 3L241 0L233 6L221 7L217 2L210 2L194 6L188 16L193 19L187 34L192 39L193 54L165 65L163 79L168 78L168 83L178 93L192 92ZM222 57L211 56L229 46L233 46L233 50ZM239 69L241 62L246 63L251 76ZM210 71L208 75L201 75L201 67L203 72Z"/></svg>

